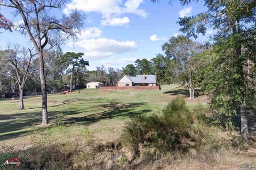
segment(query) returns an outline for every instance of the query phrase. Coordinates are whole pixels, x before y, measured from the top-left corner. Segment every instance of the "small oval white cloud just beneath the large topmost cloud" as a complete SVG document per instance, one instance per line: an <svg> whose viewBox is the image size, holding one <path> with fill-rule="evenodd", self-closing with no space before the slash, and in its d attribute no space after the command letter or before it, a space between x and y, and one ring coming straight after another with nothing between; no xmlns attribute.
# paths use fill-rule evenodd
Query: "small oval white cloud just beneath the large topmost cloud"
<svg viewBox="0 0 256 170"><path fill-rule="evenodd" d="M82 30L81 33L77 35L77 38L90 39L90 38L100 37L101 34L102 34L101 29L99 29L98 27L91 27L91 28L86 28Z"/></svg>

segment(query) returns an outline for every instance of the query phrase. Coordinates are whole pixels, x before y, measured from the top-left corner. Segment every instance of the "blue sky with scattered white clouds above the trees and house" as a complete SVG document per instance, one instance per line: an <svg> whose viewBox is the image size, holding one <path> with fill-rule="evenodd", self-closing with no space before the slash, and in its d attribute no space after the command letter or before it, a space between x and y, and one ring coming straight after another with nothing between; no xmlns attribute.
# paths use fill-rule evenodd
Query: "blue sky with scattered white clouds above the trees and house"
<svg viewBox="0 0 256 170"><path fill-rule="evenodd" d="M177 23L179 17L204 12L203 3L190 3L182 6L179 1L170 5L167 0L152 3L149 0L71 0L62 11L54 11L56 15L68 15L77 9L86 14L85 26L77 41L63 44L63 52L83 52L84 60L89 61L89 70L102 64L105 68L121 69L137 59L154 58L163 53L162 45L170 37L181 35ZM13 23L21 22L14 17L9 8L0 11ZM54 14L54 13L53 13ZM28 36L19 31L1 30L0 48L4 50L7 43L18 43L28 47ZM212 29L206 35L199 35L198 42L206 42L214 33Z"/></svg>

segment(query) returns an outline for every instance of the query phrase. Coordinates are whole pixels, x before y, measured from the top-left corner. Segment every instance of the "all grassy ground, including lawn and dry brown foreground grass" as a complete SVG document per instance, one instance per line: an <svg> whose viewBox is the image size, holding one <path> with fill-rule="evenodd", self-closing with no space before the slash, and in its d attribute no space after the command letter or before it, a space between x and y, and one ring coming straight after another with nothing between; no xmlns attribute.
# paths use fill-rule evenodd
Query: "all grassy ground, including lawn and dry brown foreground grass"
<svg viewBox="0 0 256 170"><path fill-rule="evenodd" d="M0 153L2 152L0 160L5 161L9 158L9 154L17 155L24 161L26 157L29 157L29 161L26 160L26 162L31 165L28 166L38 165L38 169L42 168L46 162L51 163L52 160L55 160L53 165L58 164L58 160L62 160L63 157L65 157L67 167L76 165L73 162L74 158L84 162L82 164L86 165L84 169L108 164L110 158L120 153L118 150L119 136L126 122L138 115L150 116L154 112L161 111L177 95L184 96L189 109L195 108L199 102L207 107L207 102L209 102L204 95L189 100L188 91L179 85L164 85L162 90L157 91L86 89L67 95L49 94L50 124L41 126L41 96L25 98L25 110L18 110L18 100L0 99ZM252 120L249 118L249 122L255 124L255 117ZM57 126L57 124L65 124L65 126ZM242 162L255 164L255 148L242 152L241 150L245 149L239 140L233 140L226 132L218 131L218 133L220 134L215 135L223 137L227 143L234 145L231 151L201 153L201 151L192 149L184 153L185 155L179 155L179 151L173 152L158 161L161 164L159 167L167 166L166 169L209 169L210 167L211 169L234 169ZM239 137L235 135L234 139L239 139ZM238 154L237 151L241 153L234 154ZM179 153L179 156L175 156L174 153ZM70 157L68 157L69 154ZM170 165L171 160L174 164ZM59 167L66 166L64 163L60 164L62 165L58 165ZM154 166L158 166L157 164ZM126 158L118 160L118 166L130 169ZM132 166L137 166L136 161ZM147 166L146 169L152 168L151 163ZM54 169L54 167L49 167L49 169L52 168Z"/></svg>

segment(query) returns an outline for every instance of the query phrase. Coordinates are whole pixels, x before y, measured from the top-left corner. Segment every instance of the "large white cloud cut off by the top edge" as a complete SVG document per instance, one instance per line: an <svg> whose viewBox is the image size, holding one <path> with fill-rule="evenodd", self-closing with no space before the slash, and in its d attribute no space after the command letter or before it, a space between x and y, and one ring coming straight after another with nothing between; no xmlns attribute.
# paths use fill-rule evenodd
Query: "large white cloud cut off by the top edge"
<svg viewBox="0 0 256 170"><path fill-rule="evenodd" d="M72 10L77 9L86 13L101 13L103 23L105 23L107 19L121 19L121 15L125 13L132 13L146 18L148 16L146 11L139 8L141 3L143 3L143 0L127 0L124 4L122 0L72 0L71 3L66 5L63 12L69 14ZM122 19L124 21L124 18ZM123 23L128 23L127 18L125 18L125 22Z"/></svg>

